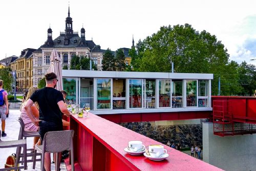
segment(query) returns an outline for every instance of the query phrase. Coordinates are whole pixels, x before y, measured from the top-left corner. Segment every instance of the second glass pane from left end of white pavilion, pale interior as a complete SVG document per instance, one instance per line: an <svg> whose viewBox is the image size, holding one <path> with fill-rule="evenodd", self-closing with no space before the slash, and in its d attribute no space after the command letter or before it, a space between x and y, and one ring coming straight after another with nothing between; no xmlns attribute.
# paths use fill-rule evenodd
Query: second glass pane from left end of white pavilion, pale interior
<svg viewBox="0 0 256 171"><path fill-rule="evenodd" d="M93 78L81 78L80 90L81 106L89 104L91 110L93 110Z"/></svg>

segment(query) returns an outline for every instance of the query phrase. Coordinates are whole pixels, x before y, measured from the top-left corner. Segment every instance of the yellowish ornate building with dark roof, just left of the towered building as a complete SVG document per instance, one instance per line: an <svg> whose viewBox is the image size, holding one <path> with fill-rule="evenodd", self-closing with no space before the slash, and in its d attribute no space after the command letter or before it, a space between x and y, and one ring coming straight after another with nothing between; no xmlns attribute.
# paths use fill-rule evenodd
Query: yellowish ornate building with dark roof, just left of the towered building
<svg viewBox="0 0 256 171"><path fill-rule="evenodd" d="M10 63L11 70L16 70L18 92L25 92L33 86L33 52L36 49L27 48L19 57Z"/></svg>

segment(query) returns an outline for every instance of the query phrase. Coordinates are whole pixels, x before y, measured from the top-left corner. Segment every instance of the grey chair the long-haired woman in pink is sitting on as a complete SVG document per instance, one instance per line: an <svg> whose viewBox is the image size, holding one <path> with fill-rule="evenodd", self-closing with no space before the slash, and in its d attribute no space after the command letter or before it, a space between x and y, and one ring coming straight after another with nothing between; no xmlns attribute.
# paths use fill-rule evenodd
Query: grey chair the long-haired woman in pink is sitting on
<svg viewBox="0 0 256 171"><path fill-rule="evenodd" d="M27 132L25 131L25 124L22 120L22 118L18 118L18 122L20 124L20 129L19 129L19 136L18 136L18 139L19 140L22 140L22 139L27 139L28 137L40 137L39 133L38 132ZM33 157L34 156L34 148L27 148L27 157ZM28 152L32 152L32 153L28 153ZM38 154L40 155L40 154ZM16 164L18 163L22 163L23 162L23 159L20 160L20 158L23 158L24 157L24 152L22 153L22 149L21 147L17 147L17 151L16 151ZM27 162L33 162L34 160L33 159L29 159L27 160ZM40 161L40 159L37 159L37 161Z"/></svg>

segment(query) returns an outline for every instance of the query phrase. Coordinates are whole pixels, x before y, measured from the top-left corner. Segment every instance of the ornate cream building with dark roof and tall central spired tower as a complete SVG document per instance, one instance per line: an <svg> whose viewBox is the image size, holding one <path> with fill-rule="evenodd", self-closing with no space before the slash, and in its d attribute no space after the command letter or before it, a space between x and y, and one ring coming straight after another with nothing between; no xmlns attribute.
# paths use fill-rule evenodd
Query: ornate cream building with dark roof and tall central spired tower
<svg viewBox="0 0 256 171"><path fill-rule="evenodd" d="M91 57L92 61L97 65L97 69L101 70L101 61L103 53L100 46L93 40L86 40L86 31L81 28L80 36L78 32L73 31L73 21L70 17L70 8L68 17L66 18L65 32L60 32L55 39L52 38L52 29L48 29L47 41L33 53L33 86L36 87L38 81L44 77L50 66L50 56L53 49L58 51L62 66L70 67L70 61L73 56Z"/></svg>

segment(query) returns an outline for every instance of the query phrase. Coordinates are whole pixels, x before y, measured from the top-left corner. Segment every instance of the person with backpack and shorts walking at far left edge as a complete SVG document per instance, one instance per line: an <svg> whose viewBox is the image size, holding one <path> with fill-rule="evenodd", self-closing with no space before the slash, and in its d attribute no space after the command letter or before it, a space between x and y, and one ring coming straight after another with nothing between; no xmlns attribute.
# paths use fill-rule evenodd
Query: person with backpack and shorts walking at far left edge
<svg viewBox="0 0 256 171"><path fill-rule="evenodd" d="M0 80L0 115L2 120L2 137L5 137L7 134L5 133L5 120L6 115L8 115L9 111L9 102L8 102L8 93L3 89L4 81Z"/></svg>

